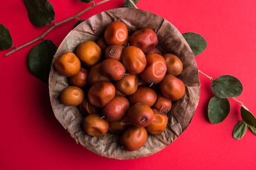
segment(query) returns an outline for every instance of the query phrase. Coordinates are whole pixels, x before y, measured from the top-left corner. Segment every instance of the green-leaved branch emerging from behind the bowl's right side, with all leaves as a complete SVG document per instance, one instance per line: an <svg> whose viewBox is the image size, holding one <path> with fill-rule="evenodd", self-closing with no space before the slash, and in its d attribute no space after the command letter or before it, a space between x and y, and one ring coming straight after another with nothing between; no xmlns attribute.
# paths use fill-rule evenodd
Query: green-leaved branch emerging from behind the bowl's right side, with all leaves
<svg viewBox="0 0 256 170"><path fill-rule="evenodd" d="M207 46L205 39L196 33L184 33L183 37L188 42L193 53L196 55L203 52ZM238 122L233 130L233 137L235 139L241 139L246 131L247 127L256 135L256 118L245 107L243 102L237 100L235 97L240 96L243 91L242 83L238 78L231 75L222 75L213 79L212 76L208 76L202 71L198 72L211 81L211 91L215 95L210 99L208 104L208 118L212 124L217 124L225 120L230 112L230 103L228 98L232 98L241 105L240 114L243 121Z"/></svg>

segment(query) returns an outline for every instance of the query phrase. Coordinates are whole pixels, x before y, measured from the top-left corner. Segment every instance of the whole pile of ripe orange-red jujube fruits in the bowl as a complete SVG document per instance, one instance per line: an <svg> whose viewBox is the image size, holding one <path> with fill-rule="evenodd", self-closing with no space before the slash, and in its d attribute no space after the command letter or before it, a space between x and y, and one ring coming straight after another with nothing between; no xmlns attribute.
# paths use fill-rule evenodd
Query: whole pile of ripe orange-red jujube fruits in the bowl
<svg viewBox="0 0 256 170"><path fill-rule="evenodd" d="M129 36L123 22L113 21L104 37L56 59L56 70L70 81L60 101L79 107L88 135L119 134L120 147L134 151L146 144L148 133L164 131L166 113L184 96L185 86L177 78L182 61L163 54L157 42L150 28Z"/></svg>

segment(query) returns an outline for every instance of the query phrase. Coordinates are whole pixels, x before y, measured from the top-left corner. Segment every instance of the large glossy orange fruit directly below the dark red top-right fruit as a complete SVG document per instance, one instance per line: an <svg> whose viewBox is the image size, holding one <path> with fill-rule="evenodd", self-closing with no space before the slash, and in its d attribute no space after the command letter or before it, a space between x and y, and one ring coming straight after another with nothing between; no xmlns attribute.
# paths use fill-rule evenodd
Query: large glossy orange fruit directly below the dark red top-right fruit
<svg viewBox="0 0 256 170"><path fill-rule="evenodd" d="M139 74L146 67L144 52L135 46L128 46L122 52L122 63L126 71L131 74Z"/></svg>

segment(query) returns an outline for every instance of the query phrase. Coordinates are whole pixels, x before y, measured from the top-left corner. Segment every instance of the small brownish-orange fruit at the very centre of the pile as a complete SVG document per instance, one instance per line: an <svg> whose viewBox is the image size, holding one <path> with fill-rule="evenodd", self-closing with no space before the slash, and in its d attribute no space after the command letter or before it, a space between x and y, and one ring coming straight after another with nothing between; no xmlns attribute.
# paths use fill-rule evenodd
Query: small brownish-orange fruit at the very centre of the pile
<svg viewBox="0 0 256 170"><path fill-rule="evenodd" d="M127 74L120 80L113 81L113 84L119 92L125 95L130 95L136 92L138 88L138 81L139 79L137 74Z"/></svg>

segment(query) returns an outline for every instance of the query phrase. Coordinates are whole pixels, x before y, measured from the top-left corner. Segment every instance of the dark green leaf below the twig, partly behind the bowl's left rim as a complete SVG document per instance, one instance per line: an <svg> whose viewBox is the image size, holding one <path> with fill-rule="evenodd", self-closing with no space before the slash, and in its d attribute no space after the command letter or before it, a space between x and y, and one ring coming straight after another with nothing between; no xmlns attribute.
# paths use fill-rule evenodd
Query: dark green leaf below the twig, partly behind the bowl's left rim
<svg viewBox="0 0 256 170"><path fill-rule="evenodd" d="M52 59L56 50L57 46L51 40L46 39L29 52L29 70L45 83L48 83Z"/></svg>

